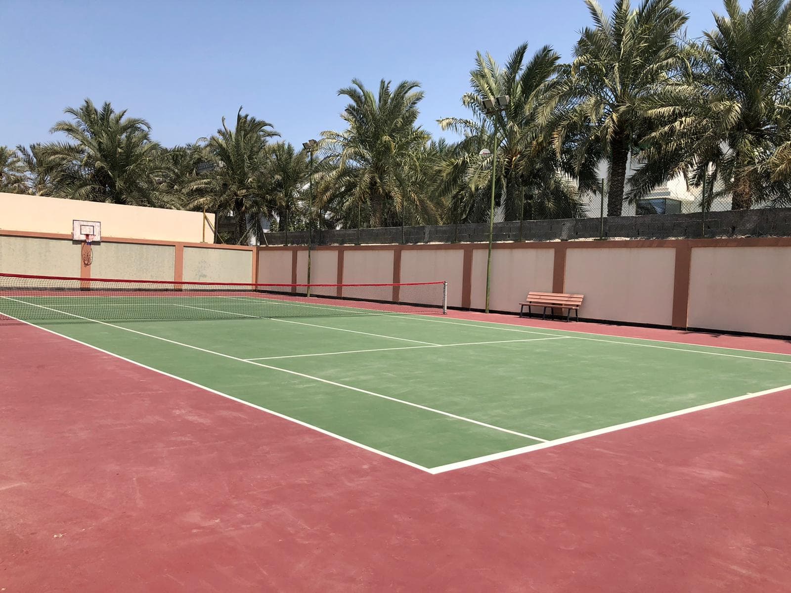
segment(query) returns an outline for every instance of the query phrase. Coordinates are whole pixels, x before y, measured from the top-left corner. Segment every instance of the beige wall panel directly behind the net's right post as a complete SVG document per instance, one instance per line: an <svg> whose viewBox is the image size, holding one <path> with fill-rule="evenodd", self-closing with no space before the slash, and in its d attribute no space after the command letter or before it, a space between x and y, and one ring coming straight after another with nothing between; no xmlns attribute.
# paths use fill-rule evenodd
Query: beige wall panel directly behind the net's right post
<svg viewBox="0 0 791 593"><path fill-rule="evenodd" d="M448 282L448 306L461 306L464 274L461 249L405 249L401 252L402 282Z"/></svg>

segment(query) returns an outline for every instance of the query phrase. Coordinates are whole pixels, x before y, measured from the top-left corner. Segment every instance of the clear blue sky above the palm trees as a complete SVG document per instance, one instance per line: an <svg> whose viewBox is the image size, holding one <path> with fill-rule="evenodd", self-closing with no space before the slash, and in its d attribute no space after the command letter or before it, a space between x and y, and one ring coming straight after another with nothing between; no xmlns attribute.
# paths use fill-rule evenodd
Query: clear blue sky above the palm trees
<svg viewBox="0 0 791 593"><path fill-rule="evenodd" d="M721 0L676 1L690 36L724 12ZM420 81L420 123L440 135L437 118L464 115L475 51L502 63L528 41L569 59L590 17L582 0L0 0L0 23L0 145L50 140L85 97L147 119L165 145L213 134L240 105L300 145L343 127L337 91L353 77Z"/></svg>

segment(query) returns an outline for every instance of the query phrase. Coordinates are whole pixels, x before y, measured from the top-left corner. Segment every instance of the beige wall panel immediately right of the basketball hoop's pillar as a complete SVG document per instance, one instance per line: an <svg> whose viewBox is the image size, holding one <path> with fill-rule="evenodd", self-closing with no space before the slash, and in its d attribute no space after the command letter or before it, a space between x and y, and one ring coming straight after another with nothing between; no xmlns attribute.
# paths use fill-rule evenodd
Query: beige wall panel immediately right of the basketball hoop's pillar
<svg viewBox="0 0 791 593"><path fill-rule="evenodd" d="M172 280L176 248L171 245L106 243L93 246L93 278Z"/></svg>

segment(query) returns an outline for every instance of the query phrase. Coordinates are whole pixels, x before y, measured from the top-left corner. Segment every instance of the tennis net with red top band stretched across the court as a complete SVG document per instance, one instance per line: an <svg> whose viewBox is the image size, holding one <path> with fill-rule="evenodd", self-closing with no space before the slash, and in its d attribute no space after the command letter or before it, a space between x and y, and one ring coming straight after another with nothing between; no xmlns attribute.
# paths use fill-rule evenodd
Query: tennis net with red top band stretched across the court
<svg viewBox="0 0 791 593"><path fill-rule="evenodd" d="M0 274L0 317L32 322L446 312L446 283L244 284Z"/></svg>

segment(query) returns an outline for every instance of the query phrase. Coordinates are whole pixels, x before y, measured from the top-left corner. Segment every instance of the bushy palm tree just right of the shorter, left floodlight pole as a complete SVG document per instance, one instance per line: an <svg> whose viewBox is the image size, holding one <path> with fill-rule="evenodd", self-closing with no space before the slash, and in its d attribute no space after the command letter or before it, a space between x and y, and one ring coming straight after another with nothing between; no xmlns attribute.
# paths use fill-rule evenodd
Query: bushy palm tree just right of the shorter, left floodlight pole
<svg viewBox="0 0 791 593"><path fill-rule="evenodd" d="M354 226L361 213L369 225L397 225L407 208L420 220L437 219L433 204L412 183L419 153L430 139L415 125L423 98L418 87L402 81L393 89L383 79L377 97L355 78L339 90L351 100L341 115L348 128L322 133L330 170L320 187L320 206L335 210L347 225Z"/></svg>

